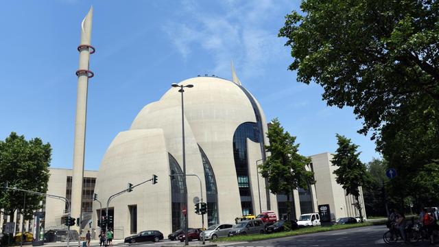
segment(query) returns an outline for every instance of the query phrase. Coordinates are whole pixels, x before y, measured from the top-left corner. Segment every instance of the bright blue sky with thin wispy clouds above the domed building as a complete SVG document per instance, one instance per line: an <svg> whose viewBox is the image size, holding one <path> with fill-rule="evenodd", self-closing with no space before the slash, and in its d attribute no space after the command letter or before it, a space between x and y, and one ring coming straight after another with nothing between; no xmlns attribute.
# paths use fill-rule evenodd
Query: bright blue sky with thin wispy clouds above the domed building
<svg viewBox="0 0 439 247"><path fill-rule="evenodd" d="M277 33L299 1L5 1L0 8L0 139L40 137L51 167L71 168L80 23L93 4L86 169L139 110L171 83L197 75L231 79L230 61L267 119L278 117L305 155L335 152L335 133L359 145L361 161L379 157L357 134L352 108L328 107L316 84L296 82Z"/></svg>

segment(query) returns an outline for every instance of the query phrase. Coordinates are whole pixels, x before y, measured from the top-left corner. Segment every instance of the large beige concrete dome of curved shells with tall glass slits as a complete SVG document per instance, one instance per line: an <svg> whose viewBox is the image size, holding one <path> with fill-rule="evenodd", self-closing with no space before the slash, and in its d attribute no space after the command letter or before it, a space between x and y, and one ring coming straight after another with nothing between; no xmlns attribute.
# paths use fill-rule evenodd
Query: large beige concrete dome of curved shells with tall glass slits
<svg viewBox="0 0 439 247"><path fill-rule="evenodd" d="M209 225L231 223L243 213L255 213L259 200L262 209L276 210L276 204L270 203L275 197L265 190L262 178L260 198L257 188L256 163L265 158L263 145L268 140L265 117L256 99L240 82L222 78L197 77L179 84L193 84L183 95L186 172L201 179L203 191L201 195L195 176L187 176L189 226L201 227L201 216L193 210L195 196L207 202ZM169 177L182 174L183 169L182 94L178 90L171 88L160 100L143 107L130 130L120 132L104 156L99 175L105 176L98 177L96 188L102 198L152 174L159 181L111 202L115 228L132 221L134 207L138 231L156 229L167 234L182 226L182 179Z"/></svg>

